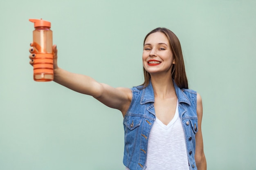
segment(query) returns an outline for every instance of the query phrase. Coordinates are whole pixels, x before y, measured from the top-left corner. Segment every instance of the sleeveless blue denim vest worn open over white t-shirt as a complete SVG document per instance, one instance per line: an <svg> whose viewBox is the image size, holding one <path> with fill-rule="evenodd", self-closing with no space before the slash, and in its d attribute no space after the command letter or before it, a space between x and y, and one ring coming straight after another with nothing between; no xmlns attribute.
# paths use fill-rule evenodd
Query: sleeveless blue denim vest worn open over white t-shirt
<svg viewBox="0 0 256 170"><path fill-rule="evenodd" d="M179 102L179 115L186 141L189 169L197 170L195 165L195 134L198 131L195 91L180 89L173 81ZM130 170L145 170L148 137L155 121L154 92L151 82L146 88L131 88L132 101L124 116L124 159Z"/></svg>

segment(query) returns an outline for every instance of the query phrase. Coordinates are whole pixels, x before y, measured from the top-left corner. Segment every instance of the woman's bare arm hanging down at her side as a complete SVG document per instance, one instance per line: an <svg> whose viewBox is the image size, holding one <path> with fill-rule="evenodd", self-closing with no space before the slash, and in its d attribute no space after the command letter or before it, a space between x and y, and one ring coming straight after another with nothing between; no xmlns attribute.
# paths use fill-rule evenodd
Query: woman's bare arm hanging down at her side
<svg viewBox="0 0 256 170"><path fill-rule="evenodd" d="M206 159L204 155L204 144L201 130L202 123L202 115L203 115L203 106L202 106L202 98L198 94L197 95L197 109L196 112L198 114L198 132L195 135L195 163L198 170L206 170Z"/></svg>

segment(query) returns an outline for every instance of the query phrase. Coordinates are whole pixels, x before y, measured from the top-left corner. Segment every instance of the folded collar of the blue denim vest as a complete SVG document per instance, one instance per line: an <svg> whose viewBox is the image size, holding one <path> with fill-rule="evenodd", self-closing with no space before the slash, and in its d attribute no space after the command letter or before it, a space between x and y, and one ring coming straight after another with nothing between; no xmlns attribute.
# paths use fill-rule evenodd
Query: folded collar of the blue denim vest
<svg viewBox="0 0 256 170"><path fill-rule="evenodd" d="M178 102L179 103L184 102L191 105L186 94L177 86L174 80L173 80L173 85L178 98ZM148 102L155 102L155 96L154 96L154 91L153 91L153 86L151 84L151 81L149 81L148 86L146 86L146 88L143 89L141 99L140 99L140 104L146 104Z"/></svg>

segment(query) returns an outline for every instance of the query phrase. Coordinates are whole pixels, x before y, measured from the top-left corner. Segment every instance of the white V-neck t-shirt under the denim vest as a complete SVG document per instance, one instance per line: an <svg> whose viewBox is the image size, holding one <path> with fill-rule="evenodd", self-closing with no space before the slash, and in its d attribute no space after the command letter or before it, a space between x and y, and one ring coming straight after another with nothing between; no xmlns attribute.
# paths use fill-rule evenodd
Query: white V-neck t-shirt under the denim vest
<svg viewBox="0 0 256 170"><path fill-rule="evenodd" d="M146 170L189 170L185 135L178 102L173 119L165 125L156 118L148 138ZM126 170L129 170L126 167Z"/></svg>

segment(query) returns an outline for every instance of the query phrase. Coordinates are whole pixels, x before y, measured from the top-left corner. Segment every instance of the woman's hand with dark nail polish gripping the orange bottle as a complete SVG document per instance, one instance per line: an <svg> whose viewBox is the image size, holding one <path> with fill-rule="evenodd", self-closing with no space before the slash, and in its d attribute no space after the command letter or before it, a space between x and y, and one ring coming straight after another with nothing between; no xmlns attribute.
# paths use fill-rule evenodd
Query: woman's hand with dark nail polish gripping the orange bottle
<svg viewBox="0 0 256 170"><path fill-rule="evenodd" d="M36 57L36 54L40 50L40 46L38 46L36 43L33 43L33 42L30 44L30 46L31 46L31 48L29 49L29 52L31 54L29 55L29 59L30 59L29 64L31 64L33 66L34 58ZM58 64L57 64L58 50L57 50L56 45L52 46L52 53L53 53L53 68L55 70L56 68L58 68Z"/></svg>

